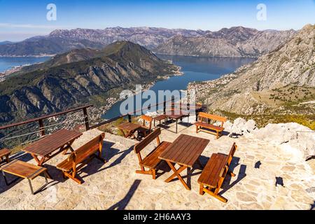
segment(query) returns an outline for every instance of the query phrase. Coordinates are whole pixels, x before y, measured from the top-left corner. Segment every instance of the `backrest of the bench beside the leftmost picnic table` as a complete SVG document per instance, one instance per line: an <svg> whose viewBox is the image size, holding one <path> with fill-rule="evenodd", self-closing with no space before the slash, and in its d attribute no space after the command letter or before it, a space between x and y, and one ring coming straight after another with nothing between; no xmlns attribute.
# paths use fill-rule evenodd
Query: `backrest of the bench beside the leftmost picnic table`
<svg viewBox="0 0 315 224"><path fill-rule="evenodd" d="M87 144L80 146L80 148L69 155L68 161L78 164L95 152L102 150L104 137L105 133L99 134L99 136L94 137Z"/></svg>

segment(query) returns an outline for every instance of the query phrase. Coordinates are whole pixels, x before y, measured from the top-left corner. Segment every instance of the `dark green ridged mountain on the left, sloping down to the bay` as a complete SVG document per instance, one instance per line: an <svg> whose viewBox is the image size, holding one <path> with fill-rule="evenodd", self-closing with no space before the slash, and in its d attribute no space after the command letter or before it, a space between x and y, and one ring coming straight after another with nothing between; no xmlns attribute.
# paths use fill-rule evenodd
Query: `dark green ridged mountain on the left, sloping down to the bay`
<svg viewBox="0 0 315 224"><path fill-rule="evenodd" d="M113 45L116 50L112 50ZM127 41L113 45L109 46L111 50L76 50L76 54L58 55L44 63L55 66L7 78L0 83L0 123L61 111L85 102L102 104L113 90L149 83L178 69L140 45ZM87 51L90 56L82 58ZM83 60L67 63L69 55Z"/></svg>

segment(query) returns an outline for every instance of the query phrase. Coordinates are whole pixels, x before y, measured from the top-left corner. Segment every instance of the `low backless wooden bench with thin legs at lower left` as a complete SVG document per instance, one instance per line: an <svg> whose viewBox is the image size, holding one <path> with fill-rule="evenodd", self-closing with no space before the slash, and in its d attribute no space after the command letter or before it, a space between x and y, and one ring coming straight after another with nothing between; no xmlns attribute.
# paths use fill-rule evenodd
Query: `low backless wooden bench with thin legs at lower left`
<svg viewBox="0 0 315 224"><path fill-rule="evenodd" d="M23 162L20 160L13 160L12 162L9 162L7 165L4 165L3 167L1 167L1 172L7 186L9 186L11 183L14 183L20 178L27 179L29 181L29 188L31 188L31 194L33 195L35 195L36 193L38 193L38 191L42 190L43 188L45 188L45 186L48 185L47 168L38 167L28 162ZM8 180L6 179L6 173L12 174L13 176L18 176L18 178L8 183ZM31 180L35 179L37 176L41 174L43 174L45 177L45 185L42 186L41 188L38 188L38 190L34 192L33 186L31 185Z"/></svg>

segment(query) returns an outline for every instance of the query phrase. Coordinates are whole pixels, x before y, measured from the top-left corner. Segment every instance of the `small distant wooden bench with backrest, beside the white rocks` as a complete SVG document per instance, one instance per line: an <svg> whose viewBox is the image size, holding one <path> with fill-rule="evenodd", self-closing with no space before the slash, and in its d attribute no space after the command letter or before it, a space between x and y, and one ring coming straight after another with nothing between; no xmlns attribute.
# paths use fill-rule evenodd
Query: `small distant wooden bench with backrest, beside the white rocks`
<svg viewBox="0 0 315 224"><path fill-rule="evenodd" d="M209 124L209 120L216 120L221 121L221 125L211 125ZM218 139L219 134L222 135L222 132L224 130L223 124L226 122L226 118L223 118L221 116L212 115L209 113L200 112L198 115L198 121L195 123L196 125L196 133L198 132L207 132L210 134L216 134L216 139ZM206 130L202 129L205 128ZM209 130L214 130L214 132L211 132Z"/></svg>

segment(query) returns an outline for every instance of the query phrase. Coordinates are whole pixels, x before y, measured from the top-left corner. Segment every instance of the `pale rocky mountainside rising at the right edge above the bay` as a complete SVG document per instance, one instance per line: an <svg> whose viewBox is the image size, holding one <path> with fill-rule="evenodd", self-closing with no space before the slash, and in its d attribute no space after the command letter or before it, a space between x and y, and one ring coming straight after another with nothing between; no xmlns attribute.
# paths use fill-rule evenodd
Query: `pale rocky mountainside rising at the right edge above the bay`
<svg viewBox="0 0 315 224"><path fill-rule="evenodd" d="M315 99L315 26L306 25L290 41L235 73L189 88L196 88L214 110L314 114L312 104L301 103Z"/></svg>

